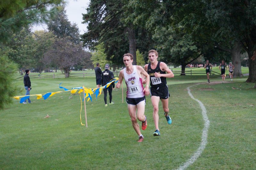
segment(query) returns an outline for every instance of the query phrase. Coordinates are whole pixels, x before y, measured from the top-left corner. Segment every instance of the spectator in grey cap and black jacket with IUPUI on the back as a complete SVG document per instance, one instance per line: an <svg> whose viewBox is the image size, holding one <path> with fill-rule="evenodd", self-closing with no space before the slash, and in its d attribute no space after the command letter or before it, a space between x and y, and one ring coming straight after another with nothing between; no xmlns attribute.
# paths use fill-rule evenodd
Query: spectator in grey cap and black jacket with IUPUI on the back
<svg viewBox="0 0 256 170"><path fill-rule="evenodd" d="M114 74L112 71L109 71L109 65L105 65L105 71L101 74L101 85L106 85L111 79L114 78ZM104 101L105 101L105 107L108 106L107 104L107 93L109 93L109 105L113 105L114 101L112 101L112 88L115 88L115 82L111 83L111 85L108 86L108 88L103 89L104 92Z"/></svg>

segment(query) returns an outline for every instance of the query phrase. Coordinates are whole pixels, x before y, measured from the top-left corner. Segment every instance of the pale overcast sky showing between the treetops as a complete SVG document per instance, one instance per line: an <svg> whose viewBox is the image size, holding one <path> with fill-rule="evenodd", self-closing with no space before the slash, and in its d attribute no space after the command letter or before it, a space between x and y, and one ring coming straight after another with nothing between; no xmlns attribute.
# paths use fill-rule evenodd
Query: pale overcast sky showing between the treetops
<svg viewBox="0 0 256 170"><path fill-rule="evenodd" d="M90 0L66 0L67 4L65 10L67 11L68 20L73 24L76 23L80 34L86 31L86 25L82 24L82 13L86 13L86 8ZM35 26L33 30L44 30L47 26Z"/></svg>

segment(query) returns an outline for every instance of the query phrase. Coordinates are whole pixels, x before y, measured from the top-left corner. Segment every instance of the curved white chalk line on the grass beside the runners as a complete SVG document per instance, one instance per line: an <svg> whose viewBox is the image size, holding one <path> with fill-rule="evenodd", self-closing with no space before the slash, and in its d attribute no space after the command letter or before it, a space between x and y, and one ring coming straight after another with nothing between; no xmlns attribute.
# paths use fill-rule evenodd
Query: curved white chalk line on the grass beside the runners
<svg viewBox="0 0 256 170"><path fill-rule="evenodd" d="M198 85L198 84L196 84ZM202 140L201 140L201 144L199 146L199 148L197 149L197 151L194 153L194 155L187 160L187 162L185 162L182 166L180 166L178 169L186 169L188 166L190 166L191 164L193 164L196 159L201 155L201 153L203 152L206 144L207 144L207 136L208 136L208 129L209 129L209 126L210 126L210 121L208 120L208 117L207 117L207 112L206 112L206 108L204 107L204 104L198 100L198 99L195 99L194 96L191 94L190 92L190 87L193 87L195 85L192 85L192 86L189 86L187 87L187 90L188 90L188 95L193 99L193 100L196 100L198 103L199 103L199 106L201 107L202 109L202 115L203 115L203 119L204 119L204 128L203 128L203 132L202 132Z"/></svg>

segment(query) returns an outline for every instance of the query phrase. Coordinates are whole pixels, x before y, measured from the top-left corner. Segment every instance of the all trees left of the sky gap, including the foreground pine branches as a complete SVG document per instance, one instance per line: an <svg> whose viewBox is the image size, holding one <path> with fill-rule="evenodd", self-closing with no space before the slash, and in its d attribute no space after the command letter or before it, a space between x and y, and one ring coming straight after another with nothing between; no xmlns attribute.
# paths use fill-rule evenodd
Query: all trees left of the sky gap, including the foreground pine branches
<svg viewBox="0 0 256 170"><path fill-rule="evenodd" d="M19 89L13 75L18 68L49 67L64 70L91 66L91 54L84 51L78 28L71 24L63 0L12 0L0 3L0 109L10 103ZM34 24L47 24L49 31L32 33Z"/></svg>

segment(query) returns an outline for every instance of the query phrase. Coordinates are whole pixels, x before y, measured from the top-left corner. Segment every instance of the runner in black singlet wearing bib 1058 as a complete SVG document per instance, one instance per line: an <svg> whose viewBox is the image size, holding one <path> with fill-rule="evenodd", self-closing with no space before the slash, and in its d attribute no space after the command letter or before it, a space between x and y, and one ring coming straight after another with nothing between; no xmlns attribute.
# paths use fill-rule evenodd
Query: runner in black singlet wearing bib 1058
<svg viewBox="0 0 256 170"><path fill-rule="evenodd" d="M151 102L153 105L153 119L155 123L156 130L153 133L153 136L160 136L160 130L158 127L158 105L159 101L161 100L163 109L164 109L164 116L168 122L168 124L172 123L171 117L168 115L169 113L169 90L168 86L166 85L166 78L173 78L174 74L172 71L167 67L164 62L158 62L158 53L156 50L148 51L148 59L150 60L149 64L144 66L144 70L146 70L150 77L150 96ZM166 74L167 72L167 74ZM143 81L145 83L145 81Z"/></svg>

